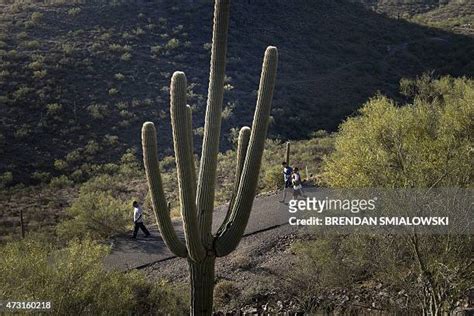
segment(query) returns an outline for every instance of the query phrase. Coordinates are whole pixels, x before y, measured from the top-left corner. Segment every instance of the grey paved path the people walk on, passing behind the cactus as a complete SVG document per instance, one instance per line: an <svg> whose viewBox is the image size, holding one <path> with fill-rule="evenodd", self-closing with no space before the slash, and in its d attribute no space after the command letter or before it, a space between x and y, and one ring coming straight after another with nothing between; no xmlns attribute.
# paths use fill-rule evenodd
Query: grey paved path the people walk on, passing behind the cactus
<svg viewBox="0 0 474 316"><path fill-rule="evenodd" d="M307 194L312 196L313 193L309 191L312 190L307 190ZM290 195L289 192L287 200ZM280 192L276 195L257 197L254 200L245 235L288 223L290 215L288 204L279 202L281 197ZM217 231L224 220L227 207L227 205L220 206L214 211L213 232ZM152 222L151 214L147 216L147 219L148 223ZM184 238L181 220L176 220L174 226L178 236ZM144 238L140 231L136 240L130 239L128 236L121 236L112 240L112 252L104 260L106 267L126 270L173 258L173 253L168 250L161 239L158 227L152 225L148 229L152 237Z"/></svg>

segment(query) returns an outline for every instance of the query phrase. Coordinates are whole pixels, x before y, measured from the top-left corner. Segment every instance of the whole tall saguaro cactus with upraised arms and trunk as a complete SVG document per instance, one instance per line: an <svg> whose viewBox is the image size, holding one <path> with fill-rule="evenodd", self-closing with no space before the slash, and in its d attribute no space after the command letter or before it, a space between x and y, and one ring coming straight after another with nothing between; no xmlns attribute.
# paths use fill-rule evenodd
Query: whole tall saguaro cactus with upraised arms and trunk
<svg viewBox="0 0 474 316"><path fill-rule="evenodd" d="M177 256L188 260L193 315L212 313L215 259L237 247L247 226L257 188L256 174L260 170L277 70L277 49L270 46L263 59L252 128L243 127L239 133L236 179L229 208L220 228L212 234L229 4L230 0L216 0L214 6L211 71L199 177L196 176L193 160L186 76L175 72L171 79L171 123L185 242L177 237L173 229L163 193L155 127L153 123L146 122L142 129L143 160L153 209L166 245Z"/></svg>

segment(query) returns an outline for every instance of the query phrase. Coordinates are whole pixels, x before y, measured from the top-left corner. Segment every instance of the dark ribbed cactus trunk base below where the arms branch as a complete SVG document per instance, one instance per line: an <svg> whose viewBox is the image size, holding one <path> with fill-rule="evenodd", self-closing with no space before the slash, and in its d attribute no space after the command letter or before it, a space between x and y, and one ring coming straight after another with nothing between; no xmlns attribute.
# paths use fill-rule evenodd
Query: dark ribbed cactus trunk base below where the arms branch
<svg viewBox="0 0 474 316"><path fill-rule="evenodd" d="M214 292L215 257L189 263L191 278L191 315L211 315Z"/></svg>

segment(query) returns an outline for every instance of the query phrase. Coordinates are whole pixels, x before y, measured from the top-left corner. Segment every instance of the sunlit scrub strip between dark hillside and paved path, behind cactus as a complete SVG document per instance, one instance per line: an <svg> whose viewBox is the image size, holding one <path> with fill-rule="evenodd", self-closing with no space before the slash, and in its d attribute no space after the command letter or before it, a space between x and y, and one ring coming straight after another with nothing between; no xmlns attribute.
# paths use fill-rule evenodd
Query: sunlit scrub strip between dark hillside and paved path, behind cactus
<svg viewBox="0 0 474 316"><path fill-rule="evenodd" d="M301 168L301 175L316 182L323 157L331 152L333 138L324 131L312 134L309 140L291 143L290 163ZM259 175L258 193L281 187L281 162L286 146L267 140ZM218 156L215 204L229 202L234 183L235 150ZM180 216L176 165L173 156L160 162L164 191L171 203L172 216ZM257 175L255 175L257 176ZM93 176L85 183L74 183L65 177L49 184L17 186L0 190L0 240L20 236L20 211L23 212L26 235L39 232L51 242L63 244L86 236L103 240L131 229L131 203L145 202L149 222L154 221L148 186L141 162L131 154L118 164L95 165Z"/></svg>

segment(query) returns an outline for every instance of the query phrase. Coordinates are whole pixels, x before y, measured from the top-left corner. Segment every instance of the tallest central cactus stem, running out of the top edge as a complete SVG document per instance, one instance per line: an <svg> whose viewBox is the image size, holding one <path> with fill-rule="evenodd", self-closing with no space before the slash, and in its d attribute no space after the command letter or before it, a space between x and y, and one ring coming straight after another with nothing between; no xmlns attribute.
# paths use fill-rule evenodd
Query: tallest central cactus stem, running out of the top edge
<svg viewBox="0 0 474 316"><path fill-rule="evenodd" d="M209 90L197 188L199 227L206 245L212 242L212 212L216 182L217 154L221 130L224 73L227 51L230 0L216 0L212 32Z"/></svg>

